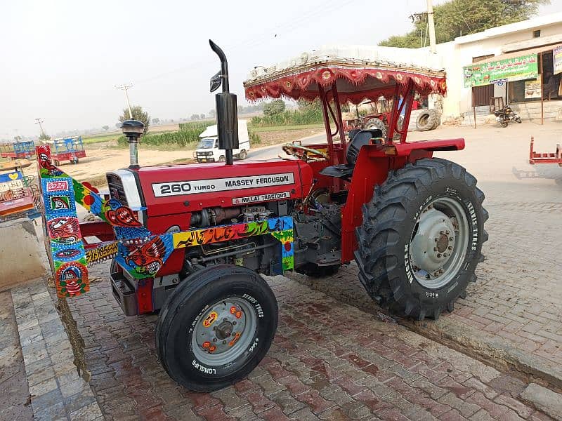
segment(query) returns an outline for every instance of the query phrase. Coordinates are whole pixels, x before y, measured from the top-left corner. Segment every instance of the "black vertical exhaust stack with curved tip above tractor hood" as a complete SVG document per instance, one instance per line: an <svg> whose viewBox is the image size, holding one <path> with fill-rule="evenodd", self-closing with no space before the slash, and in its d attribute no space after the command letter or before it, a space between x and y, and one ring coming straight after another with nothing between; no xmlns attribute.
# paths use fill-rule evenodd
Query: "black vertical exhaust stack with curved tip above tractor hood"
<svg viewBox="0 0 562 421"><path fill-rule="evenodd" d="M221 70L211 77L211 92L223 86L223 91L215 95L218 147L226 151L226 165L232 165L233 149L238 149L236 95L228 91L228 62L225 53L210 39L209 44L221 60Z"/></svg>

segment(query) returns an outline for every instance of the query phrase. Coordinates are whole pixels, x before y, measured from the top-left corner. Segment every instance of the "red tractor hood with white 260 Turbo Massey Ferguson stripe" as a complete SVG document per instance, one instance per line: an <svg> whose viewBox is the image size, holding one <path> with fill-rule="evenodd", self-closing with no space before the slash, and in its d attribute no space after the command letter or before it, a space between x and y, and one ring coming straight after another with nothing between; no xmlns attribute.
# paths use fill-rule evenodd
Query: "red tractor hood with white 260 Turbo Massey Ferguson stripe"
<svg viewBox="0 0 562 421"><path fill-rule="evenodd" d="M307 163L289 159L235 161L230 166L223 162L155 166L131 173L149 218L214 206L302 199L313 182L313 171Z"/></svg>

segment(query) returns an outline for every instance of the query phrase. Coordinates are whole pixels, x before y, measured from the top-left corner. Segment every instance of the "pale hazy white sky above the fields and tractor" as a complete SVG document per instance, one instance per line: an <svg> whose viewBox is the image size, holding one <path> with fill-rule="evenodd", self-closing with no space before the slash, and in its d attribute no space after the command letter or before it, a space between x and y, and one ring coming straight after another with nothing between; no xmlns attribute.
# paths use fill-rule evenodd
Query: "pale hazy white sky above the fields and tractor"
<svg viewBox="0 0 562 421"><path fill-rule="evenodd" d="M434 1L440 4L443 1ZM0 0L0 139L110 126L126 106L189 118L214 107L209 78L228 58L230 91L242 81L326 44L377 44L412 28L424 0L122 1ZM562 11L551 0L540 14ZM100 129L101 131L101 129Z"/></svg>

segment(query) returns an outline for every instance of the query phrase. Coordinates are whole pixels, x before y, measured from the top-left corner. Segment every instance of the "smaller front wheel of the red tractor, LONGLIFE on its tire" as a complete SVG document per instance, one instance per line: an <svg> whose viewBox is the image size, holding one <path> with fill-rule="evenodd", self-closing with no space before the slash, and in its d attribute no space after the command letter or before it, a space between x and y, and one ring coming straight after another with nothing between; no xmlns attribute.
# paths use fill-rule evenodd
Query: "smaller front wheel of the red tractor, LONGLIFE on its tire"
<svg viewBox="0 0 562 421"><path fill-rule="evenodd" d="M256 272L209 266L176 287L159 314L156 347L171 378L211 392L242 380L266 355L277 329L277 300Z"/></svg>

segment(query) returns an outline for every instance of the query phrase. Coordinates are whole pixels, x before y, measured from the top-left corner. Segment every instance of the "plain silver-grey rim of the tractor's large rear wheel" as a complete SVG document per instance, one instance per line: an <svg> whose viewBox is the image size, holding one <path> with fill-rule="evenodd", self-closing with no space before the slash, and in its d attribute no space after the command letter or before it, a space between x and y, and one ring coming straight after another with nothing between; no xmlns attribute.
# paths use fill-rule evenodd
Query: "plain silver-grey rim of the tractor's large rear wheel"
<svg viewBox="0 0 562 421"><path fill-rule="evenodd" d="M469 220L462 203L451 197L431 201L419 214L408 248L416 281L429 289L450 283L462 268L468 241Z"/></svg>

